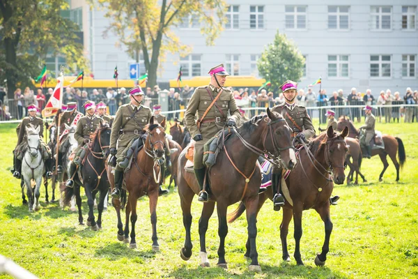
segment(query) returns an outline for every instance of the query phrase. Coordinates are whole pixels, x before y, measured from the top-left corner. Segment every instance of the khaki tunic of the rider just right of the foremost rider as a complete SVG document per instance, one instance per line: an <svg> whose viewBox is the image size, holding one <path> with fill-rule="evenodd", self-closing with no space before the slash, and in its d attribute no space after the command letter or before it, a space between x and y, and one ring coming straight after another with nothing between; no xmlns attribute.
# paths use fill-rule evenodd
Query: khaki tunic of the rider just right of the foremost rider
<svg viewBox="0 0 418 279"><path fill-rule="evenodd" d="M281 115L283 115L284 119L286 119L286 122L288 123L288 126L291 127L293 130L293 134L291 135L292 139L295 137L298 133L304 133L307 140L309 140L311 137L315 135L315 128L312 124L311 118L308 115L306 107L302 105L295 105L295 108L293 110L289 110L288 107L286 107L285 104L276 105L272 108L273 112L279 112ZM302 128L297 128L293 121L288 118L287 114L289 114L293 121Z"/></svg>

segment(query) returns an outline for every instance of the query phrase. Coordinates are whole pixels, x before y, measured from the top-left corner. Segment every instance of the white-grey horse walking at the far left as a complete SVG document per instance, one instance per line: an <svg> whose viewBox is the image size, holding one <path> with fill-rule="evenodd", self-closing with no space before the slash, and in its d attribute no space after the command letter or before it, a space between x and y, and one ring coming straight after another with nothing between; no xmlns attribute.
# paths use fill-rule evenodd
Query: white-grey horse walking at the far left
<svg viewBox="0 0 418 279"><path fill-rule="evenodd" d="M26 184L26 191L29 199L29 212L40 209L39 196L42 176L45 173L45 163L42 160L42 149L40 146L40 127L26 126L26 143L28 149L22 160L22 176ZM35 181L35 192L33 193L31 181Z"/></svg>

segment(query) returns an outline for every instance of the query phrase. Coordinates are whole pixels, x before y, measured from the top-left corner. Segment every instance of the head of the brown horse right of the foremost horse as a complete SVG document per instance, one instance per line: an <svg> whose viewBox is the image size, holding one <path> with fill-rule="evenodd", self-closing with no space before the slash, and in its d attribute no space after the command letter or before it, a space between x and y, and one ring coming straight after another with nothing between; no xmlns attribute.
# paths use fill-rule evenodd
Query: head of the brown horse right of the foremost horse
<svg viewBox="0 0 418 279"><path fill-rule="evenodd" d="M332 171L332 179L336 184L344 183L346 174L344 169L347 167L346 154L348 146L345 137L348 135L348 127L343 128L341 133L335 133L332 126L327 130L325 163Z"/></svg>

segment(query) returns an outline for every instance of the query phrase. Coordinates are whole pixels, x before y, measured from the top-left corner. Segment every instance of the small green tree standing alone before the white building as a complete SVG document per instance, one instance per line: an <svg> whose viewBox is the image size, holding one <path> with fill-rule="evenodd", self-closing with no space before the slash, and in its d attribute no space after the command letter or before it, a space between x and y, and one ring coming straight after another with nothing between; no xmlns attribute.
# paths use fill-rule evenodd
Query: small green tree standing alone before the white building
<svg viewBox="0 0 418 279"><path fill-rule="evenodd" d="M277 31L272 43L265 47L257 61L258 73L278 91L286 80L299 81L303 74L304 57L292 40Z"/></svg>

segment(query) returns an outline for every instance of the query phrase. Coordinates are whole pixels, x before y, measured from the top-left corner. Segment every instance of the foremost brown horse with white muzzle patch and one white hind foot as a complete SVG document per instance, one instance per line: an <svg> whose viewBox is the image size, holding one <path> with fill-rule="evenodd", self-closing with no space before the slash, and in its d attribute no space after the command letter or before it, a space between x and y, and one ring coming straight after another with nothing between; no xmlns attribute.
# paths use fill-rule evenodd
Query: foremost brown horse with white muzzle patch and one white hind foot
<svg viewBox="0 0 418 279"><path fill-rule="evenodd" d="M253 151L253 152L250 152ZM180 154L178 169L178 194L183 211L183 224L186 230L185 246L180 256L188 260L192 256L192 239L190 227L192 214L190 208L194 195L199 193L199 185L193 173L186 172L184 167L187 159L185 153ZM208 170L210 181L209 202L203 204L199 220L201 266L209 266L206 252L206 230L208 221L217 203L219 220L218 234L220 238L217 265L226 268L225 237L228 233L226 210L229 205L242 201L247 206L248 239L247 249L251 257L250 271L261 271L256 251L256 218L258 206L258 190L261 184L260 168L256 160L261 154L268 155L269 160L279 161L286 169L292 169L296 163L295 151L291 143L291 128L281 114L270 112L267 115L254 116L238 130L233 129L229 140L217 157L217 164Z"/></svg>

